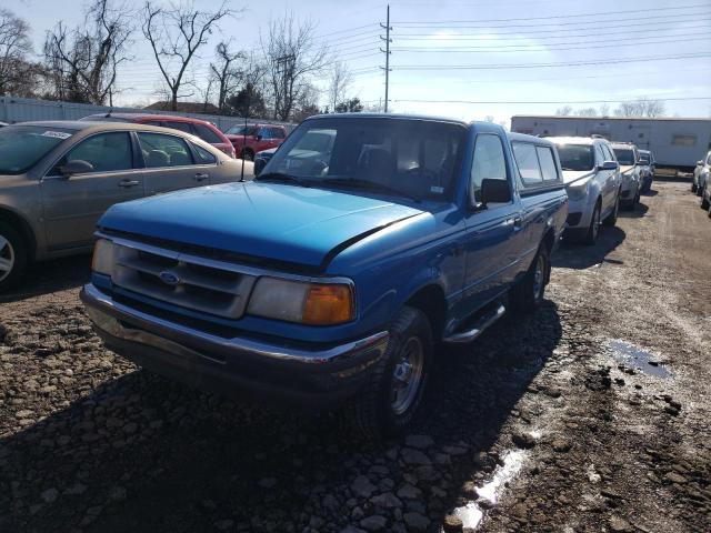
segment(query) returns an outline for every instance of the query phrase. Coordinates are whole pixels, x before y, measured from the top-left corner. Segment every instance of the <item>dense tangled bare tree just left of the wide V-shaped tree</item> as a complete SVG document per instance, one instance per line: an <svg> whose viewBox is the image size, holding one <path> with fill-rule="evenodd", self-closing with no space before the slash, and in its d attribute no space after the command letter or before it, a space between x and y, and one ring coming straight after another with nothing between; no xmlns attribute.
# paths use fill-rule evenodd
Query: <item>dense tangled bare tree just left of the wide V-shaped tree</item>
<svg viewBox="0 0 711 533"><path fill-rule="evenodd" d="M103 104L111 102L117 68L127 61L133 31L127 6L94 0L82 27L69 30L59 22L48 32L44 61L59 99Z"/></svg>

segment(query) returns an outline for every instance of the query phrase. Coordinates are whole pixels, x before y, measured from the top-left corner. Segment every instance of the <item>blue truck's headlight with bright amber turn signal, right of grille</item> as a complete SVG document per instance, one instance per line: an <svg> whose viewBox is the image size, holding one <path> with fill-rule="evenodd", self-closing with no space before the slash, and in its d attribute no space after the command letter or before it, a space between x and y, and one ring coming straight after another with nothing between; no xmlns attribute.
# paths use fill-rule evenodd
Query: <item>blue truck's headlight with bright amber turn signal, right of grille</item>
<svg viewBox="0 0 711 533"><path fill-rule="evenodd" d="M311 325L353 320L353 291L343 283L308 283L260 278L252 291L249 314Z"/></svg>

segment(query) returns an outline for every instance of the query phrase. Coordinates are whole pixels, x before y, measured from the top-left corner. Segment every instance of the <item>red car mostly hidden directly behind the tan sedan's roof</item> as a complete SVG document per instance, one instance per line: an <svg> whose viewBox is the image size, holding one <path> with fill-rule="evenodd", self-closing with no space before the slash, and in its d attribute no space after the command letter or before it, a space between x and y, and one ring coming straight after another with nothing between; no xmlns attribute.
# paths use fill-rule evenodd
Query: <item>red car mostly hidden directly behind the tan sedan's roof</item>
<svg viewBox="0 0 711 533"><path fill-rule="evenodd" d="M230 140L214 124L207 120L192 117L176 117L172 114L143 114L143 113L100 113L90 114L81 120L92 122L134 122L138 124L161 125L173 130L184 131L209 142L218 150L223 151L230 158L234 158L234 148Z"/></svg>

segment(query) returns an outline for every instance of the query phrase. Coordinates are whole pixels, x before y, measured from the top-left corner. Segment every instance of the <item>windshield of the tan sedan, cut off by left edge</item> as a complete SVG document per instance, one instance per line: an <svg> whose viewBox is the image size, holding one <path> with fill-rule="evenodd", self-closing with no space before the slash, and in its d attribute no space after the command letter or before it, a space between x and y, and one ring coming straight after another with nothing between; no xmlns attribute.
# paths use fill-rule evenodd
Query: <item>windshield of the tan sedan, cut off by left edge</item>
<svg viewBox="0 0 711 533"><path fill-rule="evenodd" d="M76 132L47 125L0 129L0 174L22 174Z"/></svg>

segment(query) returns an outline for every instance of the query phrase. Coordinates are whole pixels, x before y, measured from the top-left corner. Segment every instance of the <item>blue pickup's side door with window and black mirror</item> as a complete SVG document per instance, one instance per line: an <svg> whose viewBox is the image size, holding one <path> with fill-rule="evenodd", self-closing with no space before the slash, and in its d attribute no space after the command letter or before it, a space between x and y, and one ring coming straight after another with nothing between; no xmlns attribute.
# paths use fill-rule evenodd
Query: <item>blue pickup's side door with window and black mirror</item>
<svg viewBox="0 0 711 533"><path fill-rule="evenodd" d="M479 202L484 179L505 180L512 194L510 202L490 203L485 208L477 203L467 214L463 309L458 313L460 315L471 313L495 298L512 276L512 241L522 221L520 203L513 197L503 142L495 133L479 133L474 143L470 198L474 203Z"/></svg>

